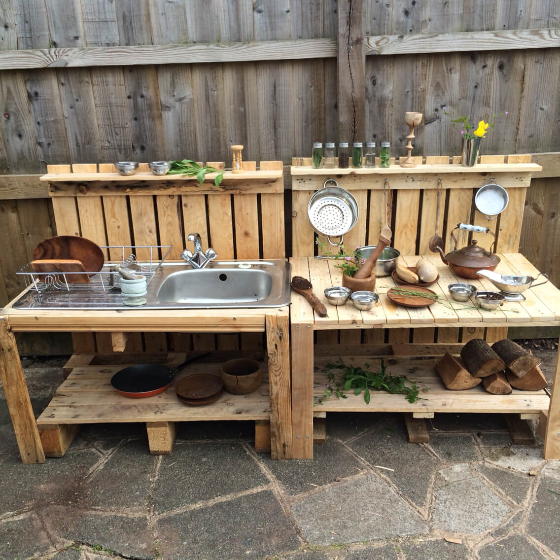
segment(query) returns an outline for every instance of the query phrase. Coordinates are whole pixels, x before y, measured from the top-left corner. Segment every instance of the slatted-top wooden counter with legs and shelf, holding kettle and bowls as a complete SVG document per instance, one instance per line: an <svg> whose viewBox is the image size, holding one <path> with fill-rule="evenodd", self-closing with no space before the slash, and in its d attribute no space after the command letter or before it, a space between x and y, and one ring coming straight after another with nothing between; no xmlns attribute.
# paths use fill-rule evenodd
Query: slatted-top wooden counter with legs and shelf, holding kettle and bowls
<svg viewBox="0 0 560 560"><path fill-rule="evenodd" d="M449 299L447 285L452 282L464 281L456 278L438 256L426 255L436 265L439 279L430 289ZM496 272L502 274L529 274L536 277L538 271L519 253L500 255L501 262ZM412 265L418 256L405 256L405 262ZM314 331L340 329L341 332L375 333L381 329L411 328L416 333L423 329L455 329L475 326L476 328L507 327L508 325L537 326L560 325L560 290L551 283L542 284L526 292L524 302L505 302L501 309L487 311L482 309L452 310L438 302L419 309L410 309L393 304L386 295L395 283L391 277L376 279L376 292L379 302L371 310L358 311L351 301L346 305L334 307L326 301L323 290L329 286L340 284L340 270L334 267L331 259L314 259L313 257L290 259L292 274L308 278L313 284L314 293L325 304L328 316L321 318L314 314L304 297L293 293L291 306L292 323L292 433L293 454L296 458L313 456L312 436L314 414L325 412L404 412L416 417L431 417L434 413L459 412L491 412L520 413L540 415L548 410L548 419L543 420L544 457L560 458L560 361L557 360L554 374L552 396L549 398L544 391L517 391L511 395L496 396L486 393L480 387L466 391L451 391L445 388L436 372L433 371L433 360L429 358L404 358L391 356L386 358L389 370L395 374L405 374L416 379L420 386L430 390L421 394L425 400L410 404L402 395L371 392L370 404L365 404L363 395L355 396L349 391L347 399L333 396L323 398L314 407L314 397L324 396L326 377L323 374L324 364L331 359L319 354L314 358ZM469 280L480 290L494 290L495 287L486 279ZM454 307L459 307L454 305ZM432 337L433 342L433 337ZM406 341L408 344L408 339ZM341 345L342 346L342 345ZM354 354L342 355L345 362L363 365L367 361L375 361L375 357L364 357L360 361L360 347L353 347ZM456 351L458 353L458 350ZM331 354L332 356L332 354ZM358 357L356 357L358 356ZM332 356L337 359L337 356ZM316 399L315 399L316 400ZM543 415L544 416L544 415Z"/></svg>

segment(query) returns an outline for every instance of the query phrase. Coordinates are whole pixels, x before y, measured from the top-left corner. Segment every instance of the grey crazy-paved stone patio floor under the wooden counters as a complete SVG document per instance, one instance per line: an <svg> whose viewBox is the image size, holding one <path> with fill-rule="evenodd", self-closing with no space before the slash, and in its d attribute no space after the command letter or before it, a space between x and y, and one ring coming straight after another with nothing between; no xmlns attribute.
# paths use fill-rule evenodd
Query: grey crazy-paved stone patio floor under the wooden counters
<svg viewBox="0 0 560 560"><path fill-rule="evenodd" d="M63 358L26 360L36 412ZM250 422L183 423L171 455L141 424L85 426L23 465L0 400L0 558L559 558L560 462L514 446L499 416L333 414L312 461L253 450ZM452 539L456 542L449 542Z"/></svg>

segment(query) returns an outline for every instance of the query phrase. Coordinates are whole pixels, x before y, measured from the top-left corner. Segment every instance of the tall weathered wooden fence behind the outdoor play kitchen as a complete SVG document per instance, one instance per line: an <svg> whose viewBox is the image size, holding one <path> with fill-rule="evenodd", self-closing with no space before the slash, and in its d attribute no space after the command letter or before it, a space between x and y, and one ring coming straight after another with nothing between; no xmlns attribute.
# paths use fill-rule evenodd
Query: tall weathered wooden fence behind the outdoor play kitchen
<svg viewBox="0 0 560 560"><path fill-rule="evenodd" d="M242 143L246 159L287 166L315 140L353 138L391 141L398 156L406 110L424 113L414 155L460 153L451 118L502 109L484 154L560 151L558 2L477 6L4 0L0 301L20 290L15 270L55 232L38 181L48 164L228 161L230 144ZM521 246L558 283L554 173L528 190Z"/></svg>

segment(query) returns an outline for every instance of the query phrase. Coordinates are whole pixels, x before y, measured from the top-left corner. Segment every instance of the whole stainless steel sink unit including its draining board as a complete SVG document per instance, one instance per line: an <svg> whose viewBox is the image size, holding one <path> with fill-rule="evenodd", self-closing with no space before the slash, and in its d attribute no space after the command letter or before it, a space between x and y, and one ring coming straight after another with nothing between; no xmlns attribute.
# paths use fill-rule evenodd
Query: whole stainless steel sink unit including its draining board
<svg viewBox="0 0 560 560"><path fill-rule="evenodd" d="M82 284L83 286L83 284ZM123 304L120 288L111 290L27 291L17 309L212 309L282 307L290 303L290 264L286 260L213 261L195 269L164 262L146 293L146 305Z"/></svg>

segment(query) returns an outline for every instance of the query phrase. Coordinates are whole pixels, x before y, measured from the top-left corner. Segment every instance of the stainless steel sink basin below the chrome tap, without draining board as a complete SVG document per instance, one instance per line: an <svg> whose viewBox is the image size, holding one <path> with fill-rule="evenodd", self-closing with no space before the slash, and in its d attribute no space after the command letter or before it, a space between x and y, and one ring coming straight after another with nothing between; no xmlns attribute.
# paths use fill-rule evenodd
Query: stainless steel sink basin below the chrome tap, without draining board
<svg viewBox="0 0 560 560"><path fill-rule="evenodd" d="M156 298L186 307L276 307L290 301L288 278L283 267L271 262L217 262L172 272Z"/></svg>

